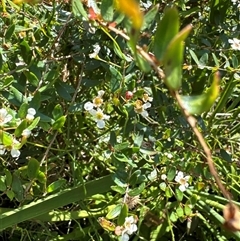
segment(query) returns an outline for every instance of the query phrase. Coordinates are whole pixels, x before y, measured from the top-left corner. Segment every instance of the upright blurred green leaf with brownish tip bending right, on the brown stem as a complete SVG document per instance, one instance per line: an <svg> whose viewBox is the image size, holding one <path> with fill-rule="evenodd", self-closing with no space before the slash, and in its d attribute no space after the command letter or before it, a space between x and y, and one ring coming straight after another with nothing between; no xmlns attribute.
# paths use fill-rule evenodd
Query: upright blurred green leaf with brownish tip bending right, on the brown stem
<svg viewBox="0 0 240 241"><path fill-rule="evenodd" d="M182 85L183 41L191 31L187 25L170 42L163 56L165 84L170 90L178 90Z"/></svg>

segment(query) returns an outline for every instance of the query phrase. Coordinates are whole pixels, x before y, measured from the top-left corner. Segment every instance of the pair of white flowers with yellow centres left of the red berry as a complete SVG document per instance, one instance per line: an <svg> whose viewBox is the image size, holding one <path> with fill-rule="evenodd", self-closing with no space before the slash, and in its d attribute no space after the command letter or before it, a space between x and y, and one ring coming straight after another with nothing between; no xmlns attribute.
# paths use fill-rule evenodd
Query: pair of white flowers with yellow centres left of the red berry
<svg viewBox="0 0 240 241"><path fill-rule="evenodd" d="M109 115L105 115L100 109L103 104L103 95L104 91L99 90L98 96L96 96L92 102L88 101L84 104L84 109L92 115L92 118L96 121L99 129L103 129L105 127L105 120L109 120L110 118Z"/></svg>

